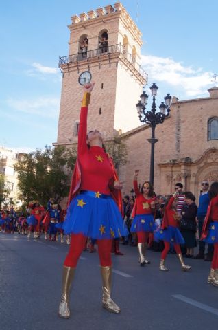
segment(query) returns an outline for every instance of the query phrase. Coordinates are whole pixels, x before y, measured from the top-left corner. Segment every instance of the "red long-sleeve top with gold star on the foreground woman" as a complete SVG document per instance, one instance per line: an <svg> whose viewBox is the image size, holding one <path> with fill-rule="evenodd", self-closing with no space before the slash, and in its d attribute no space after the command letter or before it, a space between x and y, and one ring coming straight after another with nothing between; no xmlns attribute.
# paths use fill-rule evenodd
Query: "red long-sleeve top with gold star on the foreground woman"
<svg viewBox="0 0 218 330"><path fill-rule="evenodd" d="M78 160L82 178L80 190L92 190L110 195L108 185L114 182L112 166L103 148L100 146L88 148L86 144L87 116L88 107L82 107L78 133Z"/></svg>

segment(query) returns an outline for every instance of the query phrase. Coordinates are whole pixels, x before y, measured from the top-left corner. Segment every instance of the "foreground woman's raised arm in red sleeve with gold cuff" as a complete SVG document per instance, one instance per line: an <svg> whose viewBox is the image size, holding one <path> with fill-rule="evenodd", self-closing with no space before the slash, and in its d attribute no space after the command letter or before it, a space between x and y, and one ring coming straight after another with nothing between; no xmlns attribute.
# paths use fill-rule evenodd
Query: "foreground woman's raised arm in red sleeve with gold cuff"
<svg viewBox="0 0 218 330"><path fill-rule="evenodd" d="M91 91L95 83L84 85L84 95L82 98L82 105L80 110L80 126L78 132L78 155L87 151L87 116L88 104L90 102Z"/></svg>

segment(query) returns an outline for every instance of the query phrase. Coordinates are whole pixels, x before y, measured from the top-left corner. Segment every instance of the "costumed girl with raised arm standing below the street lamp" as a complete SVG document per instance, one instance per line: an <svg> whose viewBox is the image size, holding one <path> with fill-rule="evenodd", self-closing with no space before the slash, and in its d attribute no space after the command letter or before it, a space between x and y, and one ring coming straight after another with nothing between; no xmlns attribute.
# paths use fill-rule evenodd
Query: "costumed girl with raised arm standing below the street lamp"
<svg viewBox="0 0 218 330"><path fill-rule="evenodd" d="M145 259L145 252L149 233L154 232L156 229L153 215L155 210L155 199L153 187L149 181L145 181L141 188L141 192L139 191L137 181L138 173L139 171L135 170L133 184L136 201L133 210L134 219L130 231L136 232L137 234L139 263L143 266L150 263L149 260Z"/></svg>

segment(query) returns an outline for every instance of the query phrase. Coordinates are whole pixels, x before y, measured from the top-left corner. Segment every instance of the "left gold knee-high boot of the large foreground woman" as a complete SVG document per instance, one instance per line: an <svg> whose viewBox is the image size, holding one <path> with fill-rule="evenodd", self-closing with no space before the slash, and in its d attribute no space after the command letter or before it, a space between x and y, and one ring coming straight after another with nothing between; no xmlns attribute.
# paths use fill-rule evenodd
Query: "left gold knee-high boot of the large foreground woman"
<svg viewBox="0 0 218 330"><path fill-rule="evenodd" d="M71 283L73 281L74 274L75 274L75 268L64 266L63 275L62 275L63 276L62 293L61 293L59 312L58 312L62 318L70 317L69 297L71 291Z"/></svg>

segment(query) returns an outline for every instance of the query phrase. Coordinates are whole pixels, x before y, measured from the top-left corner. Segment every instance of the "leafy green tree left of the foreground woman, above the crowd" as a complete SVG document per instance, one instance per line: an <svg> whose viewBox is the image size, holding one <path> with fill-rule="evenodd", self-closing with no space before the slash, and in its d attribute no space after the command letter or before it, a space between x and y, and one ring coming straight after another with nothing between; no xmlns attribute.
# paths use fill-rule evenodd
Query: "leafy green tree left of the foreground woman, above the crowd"
<svg viewBox="0 0 218 330"><path fill-rule="evenodd" d="M47 203L53 197L56 203L69 193L70 177L76 159L75 148L45 146L36 149L14 165L18 173L20 198L25 203L37 199Z"/></svg>

